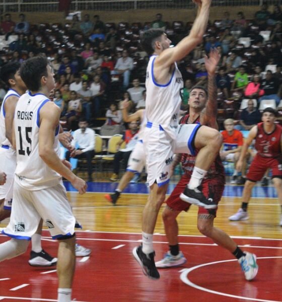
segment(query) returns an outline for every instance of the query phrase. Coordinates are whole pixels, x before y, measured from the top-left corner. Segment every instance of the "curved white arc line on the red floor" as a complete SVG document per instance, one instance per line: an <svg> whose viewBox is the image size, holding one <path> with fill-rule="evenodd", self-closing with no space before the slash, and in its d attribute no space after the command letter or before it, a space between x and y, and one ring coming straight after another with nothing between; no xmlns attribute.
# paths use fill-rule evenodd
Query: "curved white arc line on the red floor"
<svg viewBox="0 0 282 302"><path fill-rule="evenodd" d="M282 258L282 256L277 256L277 257L258 257L257 259L274 259L274 258ZM202 266L207 266L207 265L212 265L212 264L218 264L218 263L223 263L223 262L231 262L231 261L237 261L237 259L209 262L209 263L204 263L204 264L196 265L196 266L193 266L191 268L187 268L180 275L180 279L185 284L187 284L187 285L189 285L191 287L194 287L196 289L199 289L199 290L202 290L202 291L206 291L208 293L214 293L214 294L223 295L223 296L226 296L226 297L239 298L239 299L250 300L250 301L282 302L282 301L277 301L277 300L264 300L264 299L257 299L257 298L249 298L249 297L245 297L245 296L239 296L239 295L234 295L234 294L229 294L229 293L224 293L224 292L221 292L221 291L216 291L216 290L208 289L208 288L205 288L205 287L202 287L202 286L199 286L199 285L193 283L188 278L188 274L191 271L193 271L193 270L195 270L197 268L200 268Z"/></svg>

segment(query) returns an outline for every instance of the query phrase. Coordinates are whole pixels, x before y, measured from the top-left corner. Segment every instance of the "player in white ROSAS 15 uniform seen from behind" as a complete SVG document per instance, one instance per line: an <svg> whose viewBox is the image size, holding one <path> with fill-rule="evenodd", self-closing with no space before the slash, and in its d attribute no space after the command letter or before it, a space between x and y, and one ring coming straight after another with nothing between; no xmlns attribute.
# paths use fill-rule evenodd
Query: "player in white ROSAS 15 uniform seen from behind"
<svg viewBox="0 0 282 302"><path fill-rule="evenodd" d="M61 178L69 180L80 194L85 193L87 185L58 156L60 109L47 97L55 82L46 57L24 61L20 75L29 92L20 97L15 109L14 198L10 222L2 231L12 239L0 245L0 261L26 251L42 217L52 238L59 242L57 299L69 302L75 271L76 218Z"/></svg>

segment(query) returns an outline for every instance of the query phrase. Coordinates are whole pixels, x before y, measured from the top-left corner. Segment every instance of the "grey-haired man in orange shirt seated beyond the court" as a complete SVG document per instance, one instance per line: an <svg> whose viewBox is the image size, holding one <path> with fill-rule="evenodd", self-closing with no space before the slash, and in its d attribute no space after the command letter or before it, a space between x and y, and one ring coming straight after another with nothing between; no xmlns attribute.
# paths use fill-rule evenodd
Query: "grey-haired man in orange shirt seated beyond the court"
<svg viewBox="0 0 282 302"><path fill-rule="evenodd" d="M223 144L220 157L222 161L233 162L234 166L236 166L243 145L243 134L241 131L234 129L234 120L232 118L224 121L224 127L225 130L222 131ZM236 183L237 176L238 171L234 169L231 183Z"/></svg>

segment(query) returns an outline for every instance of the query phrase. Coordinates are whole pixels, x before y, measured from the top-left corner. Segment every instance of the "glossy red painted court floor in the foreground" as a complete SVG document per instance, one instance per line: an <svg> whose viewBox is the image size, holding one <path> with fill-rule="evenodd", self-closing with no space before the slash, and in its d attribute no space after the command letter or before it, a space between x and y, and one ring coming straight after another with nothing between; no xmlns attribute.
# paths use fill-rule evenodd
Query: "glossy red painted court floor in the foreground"
<svg viewBox="0 0 282 302"><path fill-rule="evenodd" d="M258 275L249 282L233 255L205 237L180 236L187 263L161 269L157 281L144 276L131 255L139 234L77 232L77 238L93 250L90 257L77 258L73 289L77 301L282 301L282 240L235 239L258 257ZM6 240L0 236L0 243ZM56 255L57 243L46 231L43 240L44 249ZM154 240L158 261L167 251L166 237L155 235ZM0 264L0 300L56 301L55 267L31 267L28 258L26 253Z"/></svg>

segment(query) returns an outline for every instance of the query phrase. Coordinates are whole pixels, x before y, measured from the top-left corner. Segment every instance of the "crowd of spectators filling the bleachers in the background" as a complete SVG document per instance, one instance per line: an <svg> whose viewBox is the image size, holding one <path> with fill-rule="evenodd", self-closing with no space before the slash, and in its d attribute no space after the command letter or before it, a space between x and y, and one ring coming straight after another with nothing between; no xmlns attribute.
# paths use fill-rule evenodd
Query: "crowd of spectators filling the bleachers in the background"
<svg viewBox="0 0 282 302"><path fill-rule="evenodd" d="M178 63L185 84L180 92L182 109L187 109L189 89L207 84L203 56L212 47L221 53L217 74L221 129L226 118L240 120L241 105L246 103L242 100L255 99L260 109L265 103L282 107L281 22L280 7L274 5L270 12L265 4L251 20L243 12L231 20L229 12L224 12L222 20L210 22L202 43ZM14 22L7 13L0 25L0 66L44 53L56 73L54 100L67 128L75 129L81 116L94 126L121 124L107 114L111 104L118 105L124 98L124 92L129 93L132 112L144 106L148 56L139 39L150 27L164 29L175 45L189 32L191 23L169 23L161 14L146 23L104 23L98 15L86 14L82 20L74 15L65 24L30 24L24 14ZM0 99L5 89L2 84Z"/></svg>

